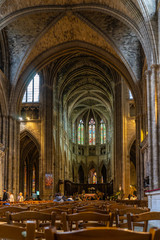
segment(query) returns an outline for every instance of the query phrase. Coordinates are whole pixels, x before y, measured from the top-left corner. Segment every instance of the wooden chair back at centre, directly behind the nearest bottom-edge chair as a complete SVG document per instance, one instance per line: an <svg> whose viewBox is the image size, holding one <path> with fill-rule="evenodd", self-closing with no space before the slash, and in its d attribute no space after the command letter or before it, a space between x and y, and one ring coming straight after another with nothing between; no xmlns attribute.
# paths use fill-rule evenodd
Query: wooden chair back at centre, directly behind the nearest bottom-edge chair
<svg viewBox="0 0 160 240"><path fill-rule="evenodd" d="M82 212L67 215L66 213L62 213L62 222L64 231L72 231L73 223L76 224L76 230L86 227L111 227L113 223L113 214Z"/></svg>

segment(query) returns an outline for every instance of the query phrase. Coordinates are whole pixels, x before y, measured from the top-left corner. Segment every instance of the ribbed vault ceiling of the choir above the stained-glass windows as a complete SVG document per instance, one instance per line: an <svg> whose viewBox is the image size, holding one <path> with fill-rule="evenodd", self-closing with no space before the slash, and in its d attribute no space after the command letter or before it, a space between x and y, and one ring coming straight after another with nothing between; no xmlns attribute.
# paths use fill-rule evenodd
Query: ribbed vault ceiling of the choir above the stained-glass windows
<svg viewBox="0 0 160 240"><path fill-rule="evenodd" d="M84 53L66 59L58 69L56 87L68 119L72 122L88 121L93 117L110 123L118 73L96 57Z"/></svg>

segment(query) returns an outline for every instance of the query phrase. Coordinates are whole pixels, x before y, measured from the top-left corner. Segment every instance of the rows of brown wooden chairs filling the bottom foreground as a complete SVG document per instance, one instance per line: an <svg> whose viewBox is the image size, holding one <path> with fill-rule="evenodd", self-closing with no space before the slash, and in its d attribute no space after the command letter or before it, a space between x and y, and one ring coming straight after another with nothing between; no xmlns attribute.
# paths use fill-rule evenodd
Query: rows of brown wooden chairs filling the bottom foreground
<svg viewBox="0 0 160 240"><path fill-rule="evenodd" d="M160 213L110 201L2 206L0 238L158 240L159 229L147 232L150 220L160 220ZM135 232L134 227L141 228L142 232Z"/></svg>

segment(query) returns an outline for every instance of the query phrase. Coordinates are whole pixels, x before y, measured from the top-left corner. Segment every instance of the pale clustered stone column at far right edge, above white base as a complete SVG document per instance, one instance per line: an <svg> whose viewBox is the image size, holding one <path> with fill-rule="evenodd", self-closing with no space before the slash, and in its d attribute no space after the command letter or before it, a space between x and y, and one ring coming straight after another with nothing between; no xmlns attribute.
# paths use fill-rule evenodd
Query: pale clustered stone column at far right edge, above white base
<svg viewBox="0 0 160 240"><path fill-rule="evenodd" d="M150 189L159 183L160 153L160 79L159 65L152 65L146 72L148 107L148 158L150 162Z"/></svg>

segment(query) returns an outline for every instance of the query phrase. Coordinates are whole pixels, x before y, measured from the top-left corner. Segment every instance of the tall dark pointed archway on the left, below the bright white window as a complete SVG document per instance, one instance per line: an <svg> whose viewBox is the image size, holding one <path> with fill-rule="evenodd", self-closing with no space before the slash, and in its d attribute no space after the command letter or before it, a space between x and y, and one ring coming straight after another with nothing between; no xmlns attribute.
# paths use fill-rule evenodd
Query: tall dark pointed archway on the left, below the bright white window
<svg viewBox="0 0 160 240"><path fill-rule="evenodd" d="M28 132L21 135L19 175L19 191L24 198L35 197L36 191L39 191L39 148Z"/></svg>

